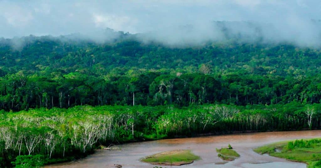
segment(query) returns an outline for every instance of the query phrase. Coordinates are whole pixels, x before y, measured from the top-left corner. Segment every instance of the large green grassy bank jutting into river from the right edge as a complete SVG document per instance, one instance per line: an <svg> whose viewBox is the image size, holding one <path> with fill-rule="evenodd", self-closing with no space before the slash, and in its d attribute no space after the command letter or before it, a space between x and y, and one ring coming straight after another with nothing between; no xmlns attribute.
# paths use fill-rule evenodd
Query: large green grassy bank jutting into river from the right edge
<svg viewBox="0 0 321 168"><path fill-rule="evenodd" d="M321 139L284 141L258 147L254 149L259 154L285 158L303 162L309 168L321 168Z"/></svg>

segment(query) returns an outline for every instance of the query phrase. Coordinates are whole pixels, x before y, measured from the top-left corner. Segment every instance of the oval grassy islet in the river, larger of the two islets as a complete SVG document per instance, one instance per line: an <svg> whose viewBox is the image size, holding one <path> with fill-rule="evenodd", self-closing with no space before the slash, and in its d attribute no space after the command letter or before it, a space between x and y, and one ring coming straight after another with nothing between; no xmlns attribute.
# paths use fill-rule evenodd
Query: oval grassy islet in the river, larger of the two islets
<svg viewBox="0 0 321 168"><path fill-rule="evenodd" d="M200 157L191 153L190 150L175 150L147 156L141 161L157 165L183 165L199 159Z"/></svg>

